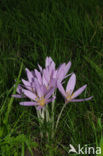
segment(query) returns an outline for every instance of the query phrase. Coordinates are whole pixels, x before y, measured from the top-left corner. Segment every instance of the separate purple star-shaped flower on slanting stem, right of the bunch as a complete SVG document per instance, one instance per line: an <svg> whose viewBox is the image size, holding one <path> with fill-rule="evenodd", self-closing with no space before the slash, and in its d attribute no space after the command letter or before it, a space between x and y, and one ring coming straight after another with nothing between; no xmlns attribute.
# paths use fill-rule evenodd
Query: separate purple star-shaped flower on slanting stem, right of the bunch
<svg viewBox="0 0 103 156"><path fill-rule="evenodd" d="M58 81L58 84L57 84L58 89L61 92L61 94L64 96L66 103L68 103L68 102L82 102L82 101L88 101L88 100L92 99L93 96L91 96L89 98L84 98L84 99L75 99L87 87L87 85L84 85L73 93L74 88L75 88L75 84L76 84L76 75L75 74L71 75L71 77L67 83L67 86L66 86L66 91L64 90L62 84Z"/></svg>

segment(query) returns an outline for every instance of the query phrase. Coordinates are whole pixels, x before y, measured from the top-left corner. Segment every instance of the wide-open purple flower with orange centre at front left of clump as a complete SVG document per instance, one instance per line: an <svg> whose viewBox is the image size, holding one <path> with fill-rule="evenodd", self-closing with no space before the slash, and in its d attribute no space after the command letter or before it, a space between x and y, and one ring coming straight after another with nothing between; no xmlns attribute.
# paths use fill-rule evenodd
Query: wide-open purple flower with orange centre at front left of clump
<svg viewBox="0 0 103 156"><path fill-rule="evenodd" d="M23 97L29 98L31 101L20 102L20 105L36 106L37 109L43 108L45 104L48 104L54 100L52 97L54 88L50 89L45 94L45 87L43 85L40 85L37 79L35 79L34 81L34 86L35 86L35 89L33 88L33 86L31 86L31 88L29 86L30 89L28 88L27 85L25 85L26 89L18 86L17 88L18 94L12 95L12 96L15 98L23 98Z"/></svg>

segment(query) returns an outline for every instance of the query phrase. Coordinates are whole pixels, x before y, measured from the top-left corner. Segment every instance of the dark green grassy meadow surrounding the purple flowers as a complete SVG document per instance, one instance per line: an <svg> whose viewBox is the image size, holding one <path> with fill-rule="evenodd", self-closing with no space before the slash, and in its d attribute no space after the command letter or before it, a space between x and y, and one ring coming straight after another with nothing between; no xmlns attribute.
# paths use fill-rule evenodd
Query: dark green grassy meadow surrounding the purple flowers
<svg viewBox="0 0 103 156"><path fill-rule="evenodd" d="M44 66L46 56L57 66L71 60L76 87L88 84L81 97L94 96L68 104L54 140L48 143L40 139L35 108L11 98L15 79L26 79L26 67ZM56 115L64 102L60 97L58 93ZM102 147L102 130L103 2L0 1L0 155L68 156L69 144Z"/></svg>

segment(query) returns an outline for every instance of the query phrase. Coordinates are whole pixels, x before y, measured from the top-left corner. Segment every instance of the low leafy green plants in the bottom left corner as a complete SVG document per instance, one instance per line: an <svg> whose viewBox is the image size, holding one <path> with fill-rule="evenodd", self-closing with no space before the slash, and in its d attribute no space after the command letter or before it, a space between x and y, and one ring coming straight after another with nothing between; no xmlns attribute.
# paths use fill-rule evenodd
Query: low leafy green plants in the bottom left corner
<svg viewBox="0 0 103 156"><path fill-rule="evenodd" d="M33 155L32 148L36 147L37 143L32 142L32 140L27 138L24 134L20 134L16 137L8 135L3 140L0 139L0 149L2 151L2 155L5 156L17 155L19 150L21 151L21 155L25 156L25 148L28 148L31 155Z"/></svg>

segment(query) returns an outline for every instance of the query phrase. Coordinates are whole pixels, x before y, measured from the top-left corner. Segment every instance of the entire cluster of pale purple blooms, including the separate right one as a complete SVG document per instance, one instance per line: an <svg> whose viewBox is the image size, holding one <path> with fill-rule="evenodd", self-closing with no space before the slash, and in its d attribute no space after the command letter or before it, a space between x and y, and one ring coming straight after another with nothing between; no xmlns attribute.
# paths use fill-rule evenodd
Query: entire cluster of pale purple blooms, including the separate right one
<svg viewBox="0 0 103 156"><path fill-rule="evenodd" d="M76 75L71 73L67 75L71 67L71 62L61 64L57 69L51 57L46 57L45 68L43 69L39 64L37 69L30 71L26 68L28 80L22 79L23 84L17 87L17 93L13 95L15 98L29 98L30 101L20 102L20 105L35 106L37 110L45 107L46 104L53 102L56 98L54 91L56 88L61 92L68 102L87 101L92 98L76 99L87 87L83 85L81 88L73 93L76 84ZM70 76L66 90L63 88L63 80Z"/></svg>

